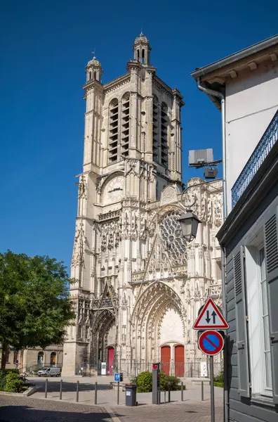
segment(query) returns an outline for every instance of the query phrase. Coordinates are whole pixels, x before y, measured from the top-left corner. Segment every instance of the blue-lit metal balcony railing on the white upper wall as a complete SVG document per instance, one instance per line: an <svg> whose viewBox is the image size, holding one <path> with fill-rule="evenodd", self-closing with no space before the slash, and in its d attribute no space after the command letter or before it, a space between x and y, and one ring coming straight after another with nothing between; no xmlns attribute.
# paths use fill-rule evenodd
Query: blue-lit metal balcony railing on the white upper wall
<svg viewBox="0 0 278 422"><path fill-rule="evenodd" d="M246 163L244 170L234 186L232 186L232 207L236 205L237 201L244 193L247 186L250 184L251 180L258 172L260 166L263 164L265 158L270 153L271 148L274 146L278 140L278 111L275 113L272 121L267 127L265 133L263 134L260 142L253 151L253 154Z"/></svg>

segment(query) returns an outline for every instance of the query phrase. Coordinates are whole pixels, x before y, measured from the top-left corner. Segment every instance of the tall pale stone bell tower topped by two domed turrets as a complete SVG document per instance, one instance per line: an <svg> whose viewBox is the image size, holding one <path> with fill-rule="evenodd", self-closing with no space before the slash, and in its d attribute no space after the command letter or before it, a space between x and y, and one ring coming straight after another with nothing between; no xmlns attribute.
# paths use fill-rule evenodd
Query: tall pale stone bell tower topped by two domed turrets
<svg viewBox="0 0 278 422"><path fill-rule="evenodd" d="M83 171L72 255L77 314L64 347L64 374L131 358L131 274L149 253L147 207L166 186L181 186L183 97L150 64L143 33L127 72L102 84L94 57L86 65Z"/></svg>

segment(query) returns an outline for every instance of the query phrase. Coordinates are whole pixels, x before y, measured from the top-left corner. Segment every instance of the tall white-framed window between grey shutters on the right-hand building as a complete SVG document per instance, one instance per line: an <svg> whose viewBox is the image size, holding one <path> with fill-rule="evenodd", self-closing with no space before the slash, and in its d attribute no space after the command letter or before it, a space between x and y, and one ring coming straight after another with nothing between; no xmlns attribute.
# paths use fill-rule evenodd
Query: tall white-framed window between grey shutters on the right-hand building
<svg viewBox="0 0 278 422"><path fill-rule="evenodd" d="M272 396L270 328L263 231L246 247L246 299L252 395Z"/></svg>

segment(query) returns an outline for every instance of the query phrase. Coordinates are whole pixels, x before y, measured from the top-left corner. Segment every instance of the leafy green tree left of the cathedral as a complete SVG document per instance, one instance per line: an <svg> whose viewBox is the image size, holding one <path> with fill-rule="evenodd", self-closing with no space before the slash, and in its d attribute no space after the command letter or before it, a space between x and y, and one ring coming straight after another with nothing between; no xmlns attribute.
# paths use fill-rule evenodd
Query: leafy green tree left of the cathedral
<svg viewBox="0 0 278 422"><path fill-rule="evenodd" d="M10 250L0 253L1 369L8 345L22 350L63 342L65 327L75 316L69 283L62 262Z"/></svg>

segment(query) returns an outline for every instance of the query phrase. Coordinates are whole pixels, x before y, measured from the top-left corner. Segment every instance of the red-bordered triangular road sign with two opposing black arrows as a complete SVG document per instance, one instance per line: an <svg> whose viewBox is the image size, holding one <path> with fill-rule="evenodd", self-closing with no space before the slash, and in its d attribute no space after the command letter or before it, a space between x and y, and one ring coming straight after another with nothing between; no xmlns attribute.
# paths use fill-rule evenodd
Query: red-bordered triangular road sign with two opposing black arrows
<svg viewBox="0 0 278 422"><path fill-rule="evenodd" d="M215 302L209 298L201 309L193 328L194 330L225 330L229 328L229 325Z"/></svg>

